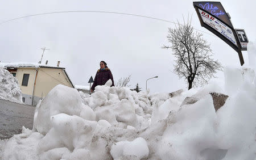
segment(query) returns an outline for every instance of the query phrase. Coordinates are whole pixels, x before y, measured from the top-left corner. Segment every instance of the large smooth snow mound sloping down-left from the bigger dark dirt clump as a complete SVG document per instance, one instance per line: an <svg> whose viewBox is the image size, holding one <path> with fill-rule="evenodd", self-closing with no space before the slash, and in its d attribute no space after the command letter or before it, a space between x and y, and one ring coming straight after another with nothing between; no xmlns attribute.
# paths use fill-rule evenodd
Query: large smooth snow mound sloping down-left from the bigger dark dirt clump
<svg viewBox="0 0 256 160"><path fill-rule="evenodd" d="M175 113L158 144L160 159L200 159L201 150L214 143L216 114L212 96L207 95Z"/></svg>

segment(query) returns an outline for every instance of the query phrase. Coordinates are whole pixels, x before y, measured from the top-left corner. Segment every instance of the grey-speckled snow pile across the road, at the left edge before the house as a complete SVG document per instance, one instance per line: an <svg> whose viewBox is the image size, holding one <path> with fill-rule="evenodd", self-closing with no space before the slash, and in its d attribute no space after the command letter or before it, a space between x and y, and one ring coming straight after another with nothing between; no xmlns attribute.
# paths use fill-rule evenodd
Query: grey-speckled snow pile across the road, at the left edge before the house
<svg viewBox="0 0 256 160"><path fill-rule="evenodd" d="M9 71L0 67L0 99L11 102L22 103L22 93L19 88L18 79L13 77Z"/></svg>

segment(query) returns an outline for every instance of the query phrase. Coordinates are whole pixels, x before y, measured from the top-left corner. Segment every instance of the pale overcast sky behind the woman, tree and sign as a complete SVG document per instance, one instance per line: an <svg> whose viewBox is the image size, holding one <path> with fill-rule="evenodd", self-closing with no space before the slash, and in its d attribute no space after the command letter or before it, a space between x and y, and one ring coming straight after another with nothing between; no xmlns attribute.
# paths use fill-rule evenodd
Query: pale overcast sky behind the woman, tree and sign
<svg viewBox="0 0 256 160"><path fill-rule="evenodd" d="M193 1L1 1L0 23L20 16L54 11L112 11L152 16L180 22L193 14L192 25L200 26ZM255 40L255 1L220 1L229 12L234 28L246 31ZM171 92L187 87L183 79L172 73L174 57L168 45L168 27L174 24L130 15L102 13L61 13L39 15L0 25L1 62L38 62L40 48L46 47L43 63L66 68L75 85L88 85L101 60L108 63L115 81L131 74L131 87L136 83L151 92ZM216 36L204 33L222 65L240 66L238 54ZM243 52L245 65L247 52ZM223 78L221 72L218 77Z"/></svg>

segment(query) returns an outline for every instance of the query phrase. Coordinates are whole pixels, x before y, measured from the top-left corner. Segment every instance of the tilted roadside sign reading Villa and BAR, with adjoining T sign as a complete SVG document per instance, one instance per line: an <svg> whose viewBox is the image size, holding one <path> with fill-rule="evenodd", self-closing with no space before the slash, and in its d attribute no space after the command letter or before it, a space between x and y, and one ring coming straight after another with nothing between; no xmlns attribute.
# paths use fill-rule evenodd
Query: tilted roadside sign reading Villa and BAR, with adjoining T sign
<svg viewBox="0 0 256 160"><path fill-rule="evenodd" d="M236 50L242 66L244 61L241 45L244 46L246 43L243 42L243 40L247 39L247 37L244 36L245 32L238 31L238 33L234 30L229 15L226 13L220 2L193 2L193 6L196 9L201 26L207 28L207 30L220 37L226 44ZM238 38L238 34L240 34L242 44L239 43L240 38Z"/></svg>

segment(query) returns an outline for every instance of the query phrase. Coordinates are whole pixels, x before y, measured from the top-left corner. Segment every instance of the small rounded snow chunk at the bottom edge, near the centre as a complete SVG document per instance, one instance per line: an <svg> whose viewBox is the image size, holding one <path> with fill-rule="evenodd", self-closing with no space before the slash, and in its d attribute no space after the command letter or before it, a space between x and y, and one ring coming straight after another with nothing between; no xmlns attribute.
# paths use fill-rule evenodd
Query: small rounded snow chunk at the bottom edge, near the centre
<svg viewBox="0 0 256 160"><path fill-rule="evenodd" d="M148 157L148 146L147 142L144 138L139 137L135 140L129 141L121 141L114 144L110 150L110 154L114 159L117 158L125 158L133 156L133 159L142 159Z"/></svg>

